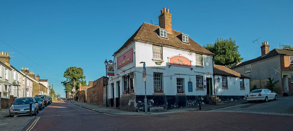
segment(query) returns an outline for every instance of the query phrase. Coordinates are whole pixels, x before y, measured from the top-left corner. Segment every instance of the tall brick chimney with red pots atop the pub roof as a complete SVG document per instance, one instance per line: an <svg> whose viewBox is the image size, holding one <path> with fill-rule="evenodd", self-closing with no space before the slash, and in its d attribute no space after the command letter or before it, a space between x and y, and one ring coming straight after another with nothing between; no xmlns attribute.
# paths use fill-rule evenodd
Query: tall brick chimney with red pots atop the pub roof
<svg viewBox="0 0 293 131"><path fill-rule="evenodd" d="M169 9L166 7L161 10L161 15L159 15L159 26L166 29L167 32L172 32L172 14L169 13Z"/></svg>

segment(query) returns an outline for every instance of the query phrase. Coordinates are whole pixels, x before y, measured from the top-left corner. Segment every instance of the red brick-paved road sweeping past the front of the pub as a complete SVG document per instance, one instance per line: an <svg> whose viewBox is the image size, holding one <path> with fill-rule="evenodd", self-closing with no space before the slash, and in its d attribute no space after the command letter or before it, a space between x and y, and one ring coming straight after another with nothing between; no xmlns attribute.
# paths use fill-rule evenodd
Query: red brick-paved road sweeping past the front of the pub
<svg viewBox="0 0 293 131"><path fill-rule="evenodd" d="M34 123L36 122L36 124ZM234 112L189 112L159 116L110 116L57 101L23 129L67 130L291 130L292 116ZM34 126L35 124L35 126Z"/></svg>

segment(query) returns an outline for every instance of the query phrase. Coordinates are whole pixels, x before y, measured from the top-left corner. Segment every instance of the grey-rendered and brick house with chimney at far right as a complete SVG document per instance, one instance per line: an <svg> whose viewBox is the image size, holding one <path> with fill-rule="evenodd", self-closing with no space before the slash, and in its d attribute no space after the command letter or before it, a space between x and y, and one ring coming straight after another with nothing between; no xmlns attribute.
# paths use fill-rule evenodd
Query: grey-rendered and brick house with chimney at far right
<svg viewBox="0 0 293 131"><path fill-rule="evenodd" d="M279 80L275 85L276 93L293 93L293 50L273 49L270 51L269 47L268 42L263 42L260 47L261 56L244 61L231 69L250 77L251 80L274 78L274 81ZM256 86L264 88L264 85Z"/></svg>

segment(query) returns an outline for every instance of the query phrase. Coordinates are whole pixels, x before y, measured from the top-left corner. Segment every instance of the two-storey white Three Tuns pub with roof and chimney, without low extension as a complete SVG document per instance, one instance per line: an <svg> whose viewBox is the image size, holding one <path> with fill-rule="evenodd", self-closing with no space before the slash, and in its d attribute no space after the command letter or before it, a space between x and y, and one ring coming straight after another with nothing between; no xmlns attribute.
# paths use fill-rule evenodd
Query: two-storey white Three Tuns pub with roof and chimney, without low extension
<svg viewBox="0 0 293 131"><path fill-rule="evenodd" d="M113 55L115 73L108 81L108 105L144 112L141 62L146 64L148 107L197 106L198 99L205 103L206 96L215 92L214 54L190 37L196 36L172 30L172 14L166 8L159 15L159 26L143 23Z"/></svg>

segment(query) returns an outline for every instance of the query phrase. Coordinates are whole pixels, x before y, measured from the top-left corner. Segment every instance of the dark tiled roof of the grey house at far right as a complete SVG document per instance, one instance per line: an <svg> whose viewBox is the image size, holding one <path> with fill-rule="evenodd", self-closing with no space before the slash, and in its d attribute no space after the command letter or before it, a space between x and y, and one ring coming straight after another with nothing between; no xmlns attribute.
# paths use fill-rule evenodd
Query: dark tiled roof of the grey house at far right
<svg viewBox="0 0 293 131"><path fill-rule="evenodd" d="M293 55L293 50L292 49L273 49L268 54L266 54L265 56L259 56L258 58L254 58L254 59L251 59L251 60L248 60L248 61L244 61L244 62L240 63L239 65L236 65L236 66L232 67L231 69L233 70L233 69L239 68L241 66L249 65L251 63L262 61L262 60L265 60L267 58L271 58L271 57L278 56L278 55Z"/></svg>

